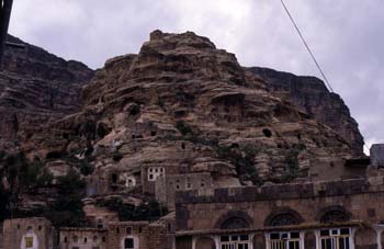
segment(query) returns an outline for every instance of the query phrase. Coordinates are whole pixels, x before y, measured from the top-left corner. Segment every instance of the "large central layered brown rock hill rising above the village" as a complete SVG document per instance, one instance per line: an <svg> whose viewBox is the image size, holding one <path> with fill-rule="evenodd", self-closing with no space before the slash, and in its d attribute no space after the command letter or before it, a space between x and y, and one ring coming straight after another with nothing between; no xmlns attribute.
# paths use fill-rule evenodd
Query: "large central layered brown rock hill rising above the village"
<svg viewBox="0 0 384 249"><path fill-rule="evenodd" d="M23 149L58 174L90 165L114 190L124 176L144 184L154 167L210 172L228 186L308 177L313 158L351 156L338 133L268 88L207 38L156 31L138 55L97 71L81 112L35 133Z"/></svg>

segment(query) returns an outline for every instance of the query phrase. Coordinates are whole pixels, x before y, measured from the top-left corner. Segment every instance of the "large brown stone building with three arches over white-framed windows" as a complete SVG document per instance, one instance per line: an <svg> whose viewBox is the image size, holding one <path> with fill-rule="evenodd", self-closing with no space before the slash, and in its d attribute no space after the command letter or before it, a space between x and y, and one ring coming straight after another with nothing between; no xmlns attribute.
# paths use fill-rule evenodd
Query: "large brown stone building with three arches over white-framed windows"
<svg viewBox="0 0 384 249"><path fill-rule="evenodd" d="M176 199L177 249L373 249L383 230L383 177Z"/></svg>

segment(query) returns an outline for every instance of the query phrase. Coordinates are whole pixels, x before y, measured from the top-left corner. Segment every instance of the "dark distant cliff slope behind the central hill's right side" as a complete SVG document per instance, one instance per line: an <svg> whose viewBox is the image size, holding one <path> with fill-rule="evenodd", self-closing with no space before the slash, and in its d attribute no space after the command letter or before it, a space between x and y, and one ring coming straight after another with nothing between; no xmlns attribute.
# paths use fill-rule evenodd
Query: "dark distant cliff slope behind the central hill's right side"
<svg viewBox="0 0 384 249"><path fill-rule="evenodd" d="M252 67L247 70L262 78L272 93L285 94L303 112L340 134L355 156L363 154L364 139L358 123L340 95L329 92L321 80L268 68Z"/></svg>

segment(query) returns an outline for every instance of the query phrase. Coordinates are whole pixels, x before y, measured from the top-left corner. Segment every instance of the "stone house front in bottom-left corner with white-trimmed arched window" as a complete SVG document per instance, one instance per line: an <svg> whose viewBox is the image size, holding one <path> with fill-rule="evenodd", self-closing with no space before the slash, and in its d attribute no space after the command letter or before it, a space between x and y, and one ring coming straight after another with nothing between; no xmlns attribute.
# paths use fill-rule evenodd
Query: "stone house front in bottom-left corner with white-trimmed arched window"
<svg viewBox="0 0 384 249"><path fill-rule="evenodd" d="M7 219L3 224L3 248L26 249L27 240L32 244L29 249L52 249L55 230L45 218Z"/></svg>

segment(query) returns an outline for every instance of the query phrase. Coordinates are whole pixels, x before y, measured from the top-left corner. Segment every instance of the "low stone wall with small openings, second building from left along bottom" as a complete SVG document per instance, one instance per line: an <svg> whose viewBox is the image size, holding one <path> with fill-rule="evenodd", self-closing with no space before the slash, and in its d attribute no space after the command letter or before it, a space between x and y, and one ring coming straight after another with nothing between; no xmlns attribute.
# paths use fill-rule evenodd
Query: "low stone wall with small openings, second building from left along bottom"
<svg viewBox="0 0 384 249"><path fill-rule="evenodd" d="M108 249L108 230L94 228L61 228L60 249Z"/></svg>

